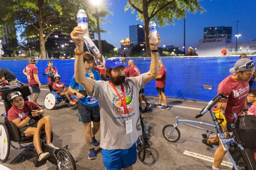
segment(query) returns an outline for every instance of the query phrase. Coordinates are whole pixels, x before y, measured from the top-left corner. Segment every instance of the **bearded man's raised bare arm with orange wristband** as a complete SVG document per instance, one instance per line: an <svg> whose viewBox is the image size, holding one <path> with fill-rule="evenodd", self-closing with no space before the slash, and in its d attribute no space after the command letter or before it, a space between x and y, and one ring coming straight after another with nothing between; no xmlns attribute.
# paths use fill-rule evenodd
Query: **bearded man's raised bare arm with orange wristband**
<svg viewBox="0 0 256 170"><path fill-rule="evenodd" d="M76 45L76 52L82 52L84 50L84 39L79 37L81 34L84 34L84 29L80 26L75 27L70 33ZM95 80L85 77L83 55L75 56L75 80L78 84L81 84L85 90L93 92Z"/></svg>

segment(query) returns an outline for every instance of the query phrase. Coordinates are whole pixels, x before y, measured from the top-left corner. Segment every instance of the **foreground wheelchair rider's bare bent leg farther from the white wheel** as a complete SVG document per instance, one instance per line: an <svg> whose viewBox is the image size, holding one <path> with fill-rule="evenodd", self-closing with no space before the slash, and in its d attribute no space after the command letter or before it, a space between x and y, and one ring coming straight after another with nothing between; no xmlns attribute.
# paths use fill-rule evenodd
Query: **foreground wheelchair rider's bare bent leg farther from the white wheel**
<svg viewBox="0 0 256 170"><path fill-rule="evenodd" d="M41 130L44 128L46 132L46 144L49 145L51 143L52 136L52 123L49 116L45 116L38 121L37 128Z"/></svg>

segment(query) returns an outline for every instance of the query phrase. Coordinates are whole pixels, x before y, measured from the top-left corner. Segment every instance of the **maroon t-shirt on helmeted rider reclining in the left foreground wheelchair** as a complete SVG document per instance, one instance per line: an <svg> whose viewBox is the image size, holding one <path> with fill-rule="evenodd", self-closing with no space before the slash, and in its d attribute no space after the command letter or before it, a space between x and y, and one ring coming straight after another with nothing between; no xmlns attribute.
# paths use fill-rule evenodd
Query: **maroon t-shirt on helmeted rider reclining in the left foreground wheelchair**
<svg viewBox="0 0 256 170"><path fill-rule="evenodd" d="M24 101L23 109L17 109L15 106L12 105L12 107L8 111L7 118L9 121L15 120L17 118L20 118L22 121L27 117L30 108L32 108L33 110L37 110L39 106L32 101Z"/></svg>

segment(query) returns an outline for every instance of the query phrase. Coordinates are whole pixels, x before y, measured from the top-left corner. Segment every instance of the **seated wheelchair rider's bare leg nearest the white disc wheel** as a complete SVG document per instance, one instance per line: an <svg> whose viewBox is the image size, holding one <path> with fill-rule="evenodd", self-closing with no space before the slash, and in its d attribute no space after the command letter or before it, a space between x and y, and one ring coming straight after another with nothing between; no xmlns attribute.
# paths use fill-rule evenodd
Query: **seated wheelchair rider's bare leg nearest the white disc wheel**
<svg viewBox="0 0 256 170"><path fill-rule="evenodd" d="M42 153L42 148L41 148L41 139L40 139L40 134L41 130L40 128L28 128L25 132L25 136L31 137L33 136L33 144L36 149L37 154Z"/></svg>

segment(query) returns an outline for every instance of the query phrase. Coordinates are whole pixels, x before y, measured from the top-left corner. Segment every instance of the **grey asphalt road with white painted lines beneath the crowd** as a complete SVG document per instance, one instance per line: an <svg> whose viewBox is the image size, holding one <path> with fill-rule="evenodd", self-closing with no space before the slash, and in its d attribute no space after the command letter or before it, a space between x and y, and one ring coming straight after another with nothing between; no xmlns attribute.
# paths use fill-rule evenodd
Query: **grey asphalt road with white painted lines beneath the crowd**
<svg viewBox="0 0 256 170"><path fill-rule="evenodd" d="M39 95L39 104L43 104L44 96L49 92L48 87L43 87ZM174 98L168 98L170 110L161 111L160 108L154 107L158 102L158 97L146 96L148 102L152 104L147 112L142 113L144 124L149 127L150 139L146 148L146 158L144 162L137 159L134 164L134 170L210 170L215 149L210 148L202 143L201 134L203 130L195 129L186 125L178 125L181 132L180 140L169 142L162 135L162 129L167 124L175 124L177 116L184 119L204 121L213 123L209 113L199 119L194 115L198 114L203 106L207 103L204 101L188 101ZM0 113L5 109L0 105ZM145 103L143 103L145 106ZM84 137L84 128L78 121L77 105L73 107L58 106L54 110L44 108L44 115L49 115L52 120L53 144L57 147L69 146L69 151L73 155L78 170L103 170L101 149L96 147L97 158L88 159L89 148L86 145ZM2 122L3 119L0 119ZM212 129L212 128L210 128ZM100 131L96 134L96 139L100 142ZM17 143L14 143L16 146ZM33 159L36 152L27 149L15 150L11 148L9 159L2 165L12 170L54 170L56 165L47 162L39 168L34 167ZM229 157L225 156L224 160L230 162ZM231 170L228 166L221 166L222 170Z"/></svg>

